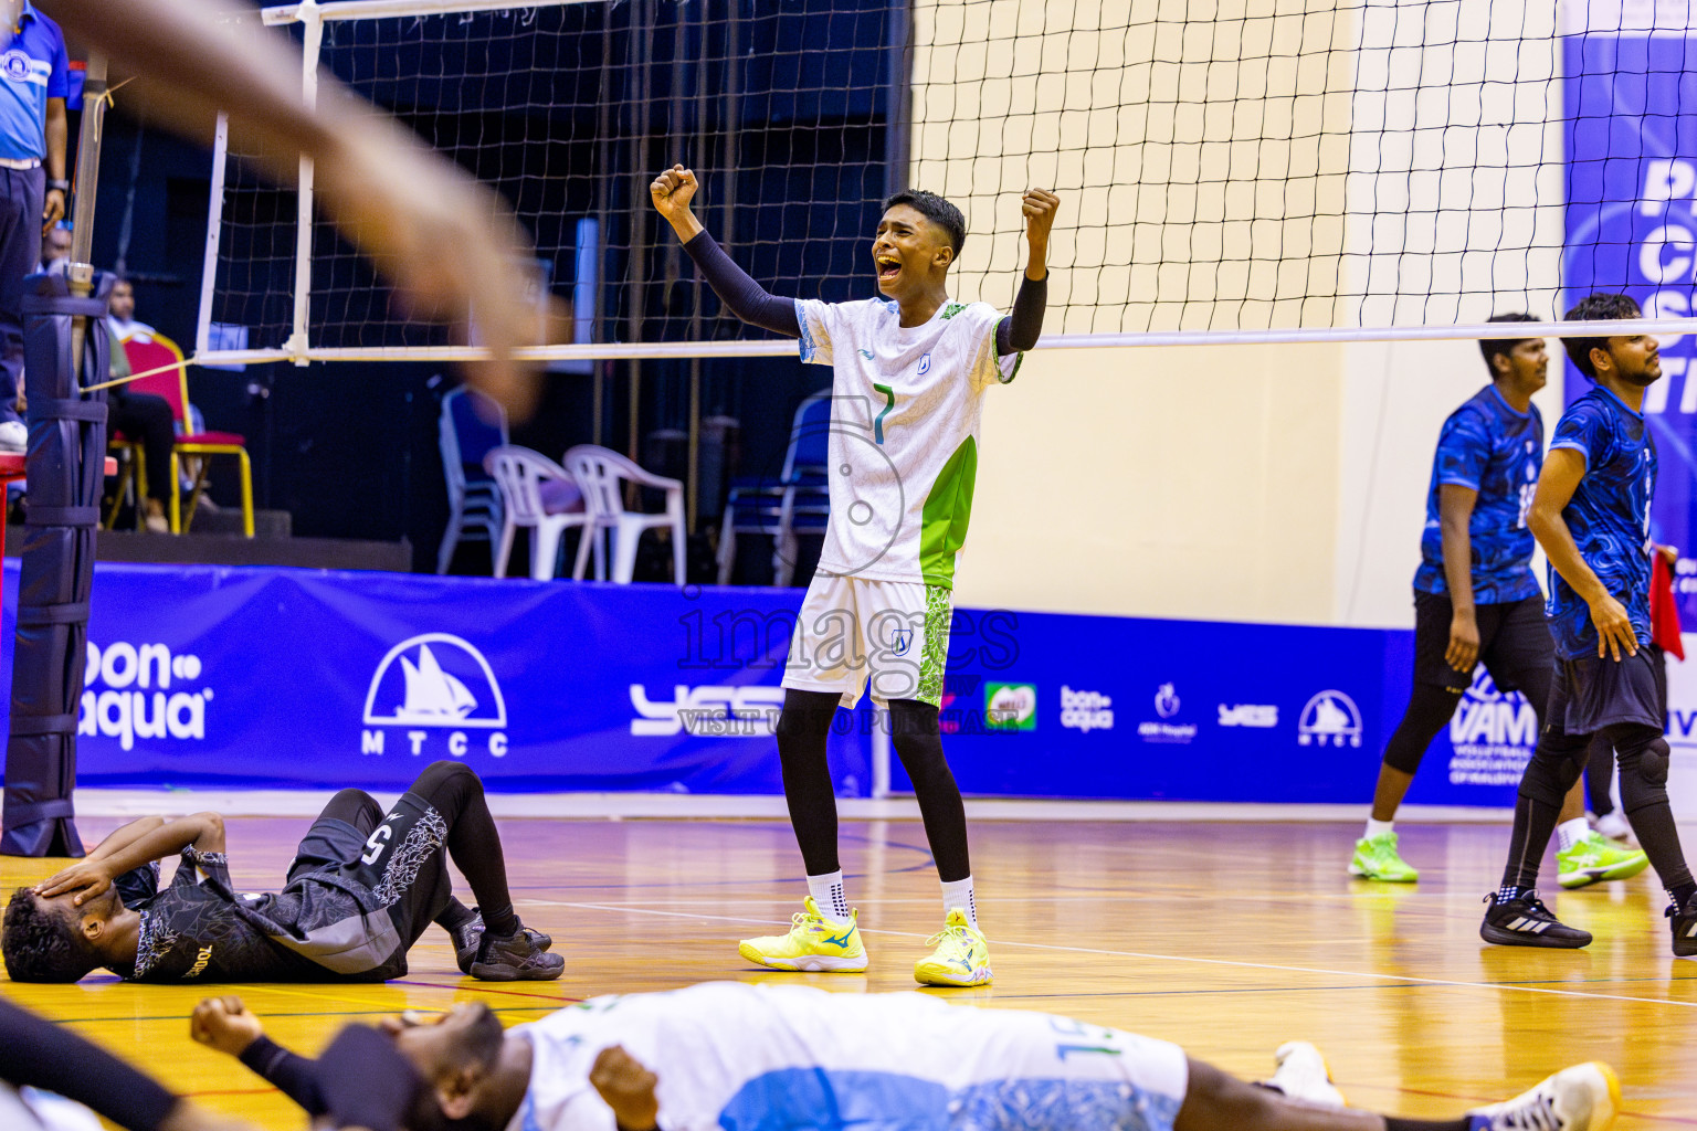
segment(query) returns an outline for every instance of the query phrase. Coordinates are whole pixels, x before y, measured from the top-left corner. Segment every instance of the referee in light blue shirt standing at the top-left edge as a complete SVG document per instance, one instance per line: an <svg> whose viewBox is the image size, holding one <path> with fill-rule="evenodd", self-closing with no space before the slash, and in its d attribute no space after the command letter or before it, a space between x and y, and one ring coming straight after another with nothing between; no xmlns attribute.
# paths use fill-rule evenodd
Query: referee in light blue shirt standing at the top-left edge
<svg viewBox="0 0 1697 1131"><path fill-rule="evenodd" d="M59 25L31 0L0 0L0 451L24 451L24 276L42 232L64 217L70 59Z"/></svg>

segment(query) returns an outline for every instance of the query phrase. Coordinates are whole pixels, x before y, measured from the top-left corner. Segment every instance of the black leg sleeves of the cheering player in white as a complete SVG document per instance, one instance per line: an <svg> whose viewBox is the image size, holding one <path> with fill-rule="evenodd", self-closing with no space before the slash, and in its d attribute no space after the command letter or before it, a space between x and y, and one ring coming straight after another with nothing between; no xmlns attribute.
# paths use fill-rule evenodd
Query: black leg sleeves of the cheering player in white
<svg viewBox="0 0 1697 1131"><path fill-rule="evenodd" d="M777 756L784 768L784 799L789 824L801 846L808 875L830 875L842 863L837 856L837 795L832 790L825 739L842 699L835 692L784 692L777 716ZM944 758L938 710L913 699L889 700L891 741L901 766L913 780L913 794L925 819L925 838L944 883L972 875L967 853L966 805L961 787Z"/></svg>

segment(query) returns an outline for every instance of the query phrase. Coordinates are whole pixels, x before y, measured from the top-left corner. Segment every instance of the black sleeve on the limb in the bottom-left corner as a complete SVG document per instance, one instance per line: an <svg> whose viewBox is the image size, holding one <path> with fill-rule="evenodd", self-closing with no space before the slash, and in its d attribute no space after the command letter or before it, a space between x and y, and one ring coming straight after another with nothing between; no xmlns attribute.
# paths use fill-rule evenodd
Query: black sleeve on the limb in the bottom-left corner
<svg viewBox="0 0 1697 1131"><path fill-rule="evenodd" d="M154 1131L176 1097L70 1029L0 1000L0 1078L58 1092L131 1131Z"/></svg>

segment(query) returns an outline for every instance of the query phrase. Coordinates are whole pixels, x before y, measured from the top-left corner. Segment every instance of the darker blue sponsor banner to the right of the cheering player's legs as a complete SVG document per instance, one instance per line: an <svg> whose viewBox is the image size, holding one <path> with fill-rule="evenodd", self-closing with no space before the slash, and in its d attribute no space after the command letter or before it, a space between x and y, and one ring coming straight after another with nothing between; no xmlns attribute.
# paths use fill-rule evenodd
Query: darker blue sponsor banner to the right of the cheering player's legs
<svg viewBox="0 0 1697 1131"><path fill-rule="evenodd" d="M944 741L967 794L1366 805L1414 671L1412 632L962 617L1005 641L950 651ZM1512 805L1536 734L1481 670L1409 800ZM893 783L910 788L899 766Z"/></svg>

